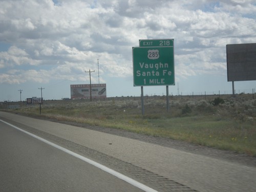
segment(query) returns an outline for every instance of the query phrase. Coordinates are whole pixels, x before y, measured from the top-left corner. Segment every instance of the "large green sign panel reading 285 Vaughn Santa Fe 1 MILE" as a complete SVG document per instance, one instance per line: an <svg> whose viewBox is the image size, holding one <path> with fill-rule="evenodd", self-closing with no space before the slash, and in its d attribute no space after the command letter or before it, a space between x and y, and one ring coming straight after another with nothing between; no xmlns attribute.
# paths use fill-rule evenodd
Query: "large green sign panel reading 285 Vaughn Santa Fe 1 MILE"
<svg viewBox="0 0 256 192"><path fill-rule="evenodd" d="M134 86L175 85L174 47L133 47L133 73Z"/></svg>

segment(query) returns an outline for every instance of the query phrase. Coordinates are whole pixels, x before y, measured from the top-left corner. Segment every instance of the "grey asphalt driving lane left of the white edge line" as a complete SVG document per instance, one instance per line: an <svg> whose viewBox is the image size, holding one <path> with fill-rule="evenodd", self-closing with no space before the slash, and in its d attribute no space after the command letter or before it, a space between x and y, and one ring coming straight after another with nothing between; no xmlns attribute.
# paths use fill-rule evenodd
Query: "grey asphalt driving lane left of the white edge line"
<svg viewBox="0 0 256 192"><path fill-rule="evenodd" d="M142 191L0 121L1 191Z"/></svg>

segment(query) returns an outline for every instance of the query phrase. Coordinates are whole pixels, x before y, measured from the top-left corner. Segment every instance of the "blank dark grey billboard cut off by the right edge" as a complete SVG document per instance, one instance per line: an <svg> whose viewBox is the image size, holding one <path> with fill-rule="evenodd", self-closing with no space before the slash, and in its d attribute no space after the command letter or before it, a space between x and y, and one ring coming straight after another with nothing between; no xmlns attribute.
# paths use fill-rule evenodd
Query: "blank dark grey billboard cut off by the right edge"
<svg viewBox="0 0 256 192"><path fill-rule="evenodd" d="M256 80L256 43L226 45L227 81Z"/></svg>

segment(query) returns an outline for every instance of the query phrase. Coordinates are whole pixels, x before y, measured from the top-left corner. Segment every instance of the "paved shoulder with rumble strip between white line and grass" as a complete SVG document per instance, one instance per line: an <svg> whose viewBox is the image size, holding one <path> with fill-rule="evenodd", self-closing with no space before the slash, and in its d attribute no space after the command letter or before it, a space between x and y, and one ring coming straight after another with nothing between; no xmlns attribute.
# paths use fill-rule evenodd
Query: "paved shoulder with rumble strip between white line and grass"
<svg viewBox="0 0 256 192"><path fill-rule="evenodd" d="M159 191L240 192L255 191L256 188L255 166L6 112L0 112L0 119L59 143L59 145L68 147L69 150L76 151L88 158L93 158L103 164L105 162L113 169ZM0 126L2 130L3 123ZM5 143L12 145L11 141L16 140L3 138L2 141L2 137L4 136L1 133L1 148ZM100 155L92 156L90 155L92 153ZM74 161L77 160L74 158ZM29 162L28 159L24 161L24 163L26 162ZM53 169L58 165L53 164L51 167ZM135 170L135 173L132 170ZM154 182L156 179L158 179L157 182ZM72 178L72 180L74 179Z"/></svg>

